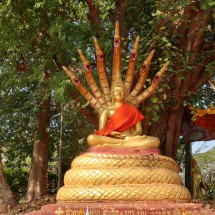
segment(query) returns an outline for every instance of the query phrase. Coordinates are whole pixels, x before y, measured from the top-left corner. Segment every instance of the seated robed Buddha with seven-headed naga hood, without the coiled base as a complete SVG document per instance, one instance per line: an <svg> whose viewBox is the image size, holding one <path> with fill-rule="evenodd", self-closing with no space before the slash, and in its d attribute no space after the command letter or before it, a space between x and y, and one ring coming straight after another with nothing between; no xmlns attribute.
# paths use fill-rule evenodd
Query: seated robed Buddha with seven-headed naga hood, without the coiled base
<svg viewBox="0 0 215 215"><path fill-rule="evenodd" d="M96 131L96 134L92 134L88 137L88 144L90 146L143 146L157 148L160 145L158 138L149 137L146 135L142 136L141 120L144 116L135 108L135 106L144 101L155 91L168 63L166 63L156 74L152 84L141 92L142 86L144 85L149 72L151 59L154 54L154 51L152 51L140 69L140 78L137 81L136 86L133 90L131 90L135 74L139 37L136 38L125 80L122 81L119 23L116 22L112 84L110 88L105 70L104 53L102 52L96 38L94 38L94 43L97 56L97 69L102 91L99 89L93 78L89 61L80 50L79 54L84 65L85 75L93 94L91 94L81 84L81 82L71 71L69 71L66 67L63 67L77 89L100 115L99 131Z"/></svg>

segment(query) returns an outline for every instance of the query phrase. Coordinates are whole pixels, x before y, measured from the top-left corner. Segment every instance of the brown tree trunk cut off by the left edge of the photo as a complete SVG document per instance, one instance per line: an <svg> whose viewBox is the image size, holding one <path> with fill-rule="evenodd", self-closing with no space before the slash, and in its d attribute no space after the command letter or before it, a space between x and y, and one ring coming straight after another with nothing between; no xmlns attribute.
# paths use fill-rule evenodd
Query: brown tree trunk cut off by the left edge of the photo
<svg viewBox="0 0 215 215"><path fill-rule="evenodd" d="M10 209L12 209L16 204L17 203L13 193L4 177L3 165L0 155L0 214L9 213Z"/></svg>

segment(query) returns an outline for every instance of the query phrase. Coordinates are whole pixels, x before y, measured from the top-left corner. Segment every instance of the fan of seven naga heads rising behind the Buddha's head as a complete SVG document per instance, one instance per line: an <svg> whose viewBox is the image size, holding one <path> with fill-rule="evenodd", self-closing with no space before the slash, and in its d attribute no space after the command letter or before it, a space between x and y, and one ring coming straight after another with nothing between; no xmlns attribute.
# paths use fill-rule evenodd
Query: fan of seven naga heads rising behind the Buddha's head
<svg viewBox="0 0 215 215"><path fill-rule="evenodd" d="M139 36L136 38L134 47L131 53L130 62L128 65L127 73L124 80L124 85L126 89L126 102L133 105L138 106L141 102L146 100L157 88L161 76L163 75L164 71L168 66L168 62L164 64L164 66L160 69L160 71L155 75L152 84L142 92L143 85L145 84L152 57L154 55L154 50L151 51L147 59L143 62L142 67L140 68L140 77L136 85L133 89L131 89L134 74L135 74L135 66L137 61L137 50L139 45ZM72 71L69 71L66 67L63 67L64 71L67 75L71 78L74 85L80 91L80 93L89 101L92 107L94 107L97 112L101 115L102 111L107 108L109 105L112 105L112 98L111 98L111 87L108 82L107 73L105 69L104 63L104 53L97 41L94 37L94 44L96 49L96 62L97 62L97 70L98 76L100 81L100 86L96 84L89 61L86 59L84 54L81 50L78 50L83 66L84 72L86 75L86 79L88 81L89 87L92 91L90 93L83 84L78 80L78 78L73 74ZM119 23L116 22L115 26L115 35L114 35L114 56L113 56L113 66L112 66L112 81L111 86L113 86L114 80L116 79L116 74L119 73L119 77L121 78L121 51L120 51L120 35L119 35Z"/></svg>

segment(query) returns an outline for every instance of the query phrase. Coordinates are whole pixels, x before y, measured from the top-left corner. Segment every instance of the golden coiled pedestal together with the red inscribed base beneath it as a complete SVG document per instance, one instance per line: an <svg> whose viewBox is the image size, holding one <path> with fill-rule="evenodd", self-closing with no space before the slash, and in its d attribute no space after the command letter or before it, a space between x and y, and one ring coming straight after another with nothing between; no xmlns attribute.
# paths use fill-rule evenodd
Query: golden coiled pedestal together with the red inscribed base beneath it
<svg viewBox="0 0 215 215"><path fill-rule="evenodd" d="M114 167L113 174L117 171L122 171L123 167L126 168L125 171L121 173L119 172L120 177L114 181L114 185L110 184L110 179L114 178L111 176L112 170L110 168L112 167ZM94 168L96 171L100 171L98 177L93 172ZM102 168L105 169L105 173L107 168L108 177L103 177L101 174L101 172L103 173ZM82 172L83 169L84 171L89 171L89 174L87 172ZM138 174L138 178L140 176L141 177L137 180L135 179L135 174L136 172L141 171L141 169L144 169L146 174L140 172L140 174ZM161 170L164 172L159 172ZM60 197L58 197L58 203L44 205L40 211L34 211L28 213L28 215L214 214L213 211L205 209L201 203L189 203L189 192L187 193L186 189L183 188L182 185L175 184L175 182L180 182L177 179L177 177L179 177L179 167L177 163L169 157L162 156L159 149L138 147L91 147L87 152L82 153L75 160L73 160L71 164L71 170L69 171L69 176L71 179L69 179L70 177L68 176L65 176L64 178L64 182L66 184L64 186L65 188L63 188L66 191L65 200L62 200L63 195L60 194ZM153 171L154 173L150 175ZM166 173L166 171L169 171L170 175L166 175L163 179L163 174ZM91 177L92 174L93 176ZM78 176L78 179L76 179L76 176ZM134 176L135 183L131 183L129 186L123 187L123 184L120 180L125 176L127 178L132 178ZM172 181L174 177L175 181ZM145 185L144 180L147 181ZM168 180L170 181L168 182ZM87 181L89 184L88 186L85 186L85 181ZM137 183L139 181L142 183L140 186L142 187L143 192L141 195L138 195L138 198L146 200L137 200L136 194L139 193L139 190L136 192L136 189L138 189ZM105 185L102 184L103 182ZM90 183L92 183L92 185ZM108 189L105 189L106 184L108 184ZM124 189L123 192L119 192L118 187L120 186ZM177 192L175 192L173 189L171 193L166 196L169 192L168 186L176 186L177 189L179 189ZM98 195L98 189L100 189L100 187L104 189L104 194L102 195ZM151 190L151 188L154 190ZM180 197L180 189L185 189L183 192L185 192L186 195ZM70 192L72 192L72 195L70 195ZM89 198L87 197L88 195ZM114 198L112 198L113 195ZM175 195L176 198L173 198L172 196ZM69 196L69 198L67 196ZM157 196L159 196L159 199L157 199ZM150 198L154 198L154 200ZM127 200L125 201L122 199Z"/></svg>

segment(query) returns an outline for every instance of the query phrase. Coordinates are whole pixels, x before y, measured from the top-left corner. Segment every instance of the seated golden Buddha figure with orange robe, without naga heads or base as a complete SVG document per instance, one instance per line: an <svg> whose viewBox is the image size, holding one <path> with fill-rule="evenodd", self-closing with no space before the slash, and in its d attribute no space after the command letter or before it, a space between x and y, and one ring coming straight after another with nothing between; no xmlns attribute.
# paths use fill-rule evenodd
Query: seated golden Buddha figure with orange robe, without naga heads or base
<svg viewBox="0 0 215 215"><path fill-rule="evenodd" d="M119 76L118 73L116 75ZM113 104L102 111L99 131L87 138L89 146L158 148L158 138L142 135L141 120L144 116L125 103L126 89L119 77L113 83L111 97Z"/></svg>

